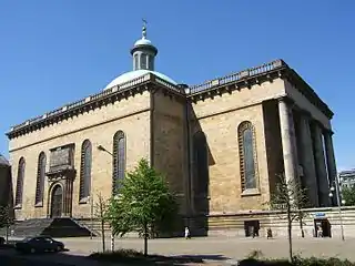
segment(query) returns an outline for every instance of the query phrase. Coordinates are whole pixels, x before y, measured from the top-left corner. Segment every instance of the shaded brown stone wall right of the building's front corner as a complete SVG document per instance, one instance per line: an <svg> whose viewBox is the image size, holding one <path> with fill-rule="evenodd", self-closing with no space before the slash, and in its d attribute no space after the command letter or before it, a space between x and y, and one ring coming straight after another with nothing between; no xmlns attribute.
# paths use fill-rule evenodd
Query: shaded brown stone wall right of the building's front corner
<svg viewBox="0 0 355 266"><path fill-rule="evenodd" d="M183 213L186 212L185 192L189 176L186 174L185 146L185 101L162 91L152 94L153 111L153 150L154 167L163 173L178 194L179 204Z"/></svg>

